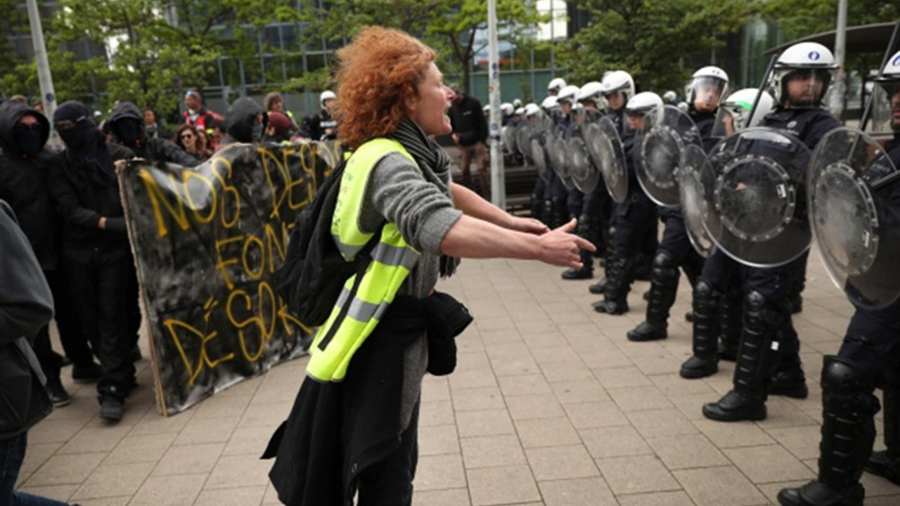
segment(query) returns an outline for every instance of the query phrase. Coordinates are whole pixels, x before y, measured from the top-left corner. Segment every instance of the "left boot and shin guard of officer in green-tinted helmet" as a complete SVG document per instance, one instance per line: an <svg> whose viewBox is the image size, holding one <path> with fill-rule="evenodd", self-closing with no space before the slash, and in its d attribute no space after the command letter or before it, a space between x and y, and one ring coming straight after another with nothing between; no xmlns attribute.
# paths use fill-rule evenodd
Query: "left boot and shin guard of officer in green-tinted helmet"
<svg viewBox="0 0 900 506"><path fill-rule="evenodd" d="M679 375L687 379L715 375L719 370L716 343L719 336L719 293L702 277L694 287L694 355L681 364Z"/></svg>

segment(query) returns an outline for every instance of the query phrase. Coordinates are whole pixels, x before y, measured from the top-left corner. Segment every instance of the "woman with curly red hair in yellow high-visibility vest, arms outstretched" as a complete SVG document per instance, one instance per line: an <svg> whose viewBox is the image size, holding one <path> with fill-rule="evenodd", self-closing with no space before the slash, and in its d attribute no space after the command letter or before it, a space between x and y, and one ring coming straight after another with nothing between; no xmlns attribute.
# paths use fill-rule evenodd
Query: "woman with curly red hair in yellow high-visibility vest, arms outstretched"
<svg viewBox="0 0 900 506"><path fill-rule="evenodd" d="M431 308L460 306L433 288L456 257L581 267L579 248L593 249L569 233L574 220L547 230L451 183L450 160L430 138L451 131L454 96L435 59L379 27L338 50L340 140L354 154L331 230L347 259L375 239L365 272L347 280L320 327L291 416L270 443L286 504L411 504L427 334L449 331L448 312Z"/></svg>

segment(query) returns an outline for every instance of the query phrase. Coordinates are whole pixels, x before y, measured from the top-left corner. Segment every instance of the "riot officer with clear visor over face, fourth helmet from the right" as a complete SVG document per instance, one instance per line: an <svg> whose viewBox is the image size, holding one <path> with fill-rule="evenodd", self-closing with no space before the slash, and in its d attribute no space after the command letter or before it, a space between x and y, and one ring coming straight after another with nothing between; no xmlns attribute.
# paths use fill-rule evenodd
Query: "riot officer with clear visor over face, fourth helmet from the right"
<svg viewBox="0 0 900 506"><path fill-rule="evenodd" d="M687 86L689 115L698 128L700 138L710 144L716 109L728 89L728 75L721 68L709 66L694 73ZM715 143L715 139L712 139ZM711 146L710 146L711 148ZM665 222L662 242L653 257L646 320L627 337L632 341L649 341L668 337L669 309L678 291L679 267L695 285L703 257L691 246L680 206L661 206L659 215Z"/></svg>

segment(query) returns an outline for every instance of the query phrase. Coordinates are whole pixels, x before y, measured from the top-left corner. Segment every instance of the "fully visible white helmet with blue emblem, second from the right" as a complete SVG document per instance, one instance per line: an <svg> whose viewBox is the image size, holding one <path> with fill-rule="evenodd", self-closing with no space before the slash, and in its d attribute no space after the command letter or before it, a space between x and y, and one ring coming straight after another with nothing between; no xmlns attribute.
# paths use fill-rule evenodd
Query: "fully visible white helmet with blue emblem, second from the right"
<svg viewBox="0 0 900 506"><path fill-rule="evenodd" d="M778 104L788 103L792 107L819 107L823 104L828 87L831 85L837 65L832 51L818 42L799 42L784 50L775 61L769 79L770 92ZM822 92L792 98L788 95L788 82L807 78L811 82L821 80ZM814 88L815 89L815 88Z"/></svg>

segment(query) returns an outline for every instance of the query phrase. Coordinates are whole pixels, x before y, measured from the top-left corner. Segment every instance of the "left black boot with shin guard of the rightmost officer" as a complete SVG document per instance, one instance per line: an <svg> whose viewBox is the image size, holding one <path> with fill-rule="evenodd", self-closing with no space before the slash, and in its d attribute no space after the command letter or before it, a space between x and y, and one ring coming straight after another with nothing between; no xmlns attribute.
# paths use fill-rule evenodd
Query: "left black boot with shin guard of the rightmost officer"
<svg viewBox="0 0 900 506"><path fill-rule="evenodd" d="M875 441L875 384L861 366L825 356L822 370L822 442L819 475L798 488L781 489L784 506L862 506L863 466Z"/></svg>

